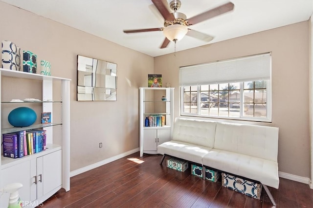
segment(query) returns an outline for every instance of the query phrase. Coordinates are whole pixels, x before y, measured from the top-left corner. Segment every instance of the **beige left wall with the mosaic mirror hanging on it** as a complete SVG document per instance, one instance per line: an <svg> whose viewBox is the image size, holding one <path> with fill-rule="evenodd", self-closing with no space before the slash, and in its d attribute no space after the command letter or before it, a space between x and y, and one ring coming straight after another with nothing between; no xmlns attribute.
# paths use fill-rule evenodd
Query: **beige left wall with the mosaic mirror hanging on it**
<svg viewBox="0 0 313 208"><path fill-rule="evenodd" d="M70 170L139 147L138 87L145 86L147 75L153 73L153 57L0 2L2 40L13 41L22 50L32 51L38 60L49 60L52 76L72 80ZM117 101L76 101L77 55L117 64ZM41 92L41 87L36 86ZM57 131L54 134L58 137ZM99 142L103 143L101 149Z"/></svg>

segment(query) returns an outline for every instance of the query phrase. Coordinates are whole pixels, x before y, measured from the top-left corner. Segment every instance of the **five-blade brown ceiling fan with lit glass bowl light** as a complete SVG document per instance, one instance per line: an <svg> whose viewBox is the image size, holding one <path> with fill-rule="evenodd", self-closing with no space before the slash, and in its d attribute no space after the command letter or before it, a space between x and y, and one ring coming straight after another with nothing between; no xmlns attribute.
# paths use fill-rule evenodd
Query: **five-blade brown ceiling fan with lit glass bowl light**
<svg viewBox="0 0 313 208"><path fill-rule="evenodd" d="M136 30L124 30L124 33L139 33L139 32L151 32L151 31L163 31L165 39L160 48L166 48L170 41L176 42L183 38L185 35L198 38L203 41L209 42L213 39L212 36L204 33L192 30L188 28L190 25L197 24L206 19L216 17L233 10L234 4L232 2L225 3L216 8L210 9L199 15L187 19L186 15L177 12L180 8L181 2L179 0L172 0L169 4L166 0L152 0L159 13L164 18L164 27L160 28L148 28L148 29L136 29ZM173 13L170 12L170 9Z"/></svg>

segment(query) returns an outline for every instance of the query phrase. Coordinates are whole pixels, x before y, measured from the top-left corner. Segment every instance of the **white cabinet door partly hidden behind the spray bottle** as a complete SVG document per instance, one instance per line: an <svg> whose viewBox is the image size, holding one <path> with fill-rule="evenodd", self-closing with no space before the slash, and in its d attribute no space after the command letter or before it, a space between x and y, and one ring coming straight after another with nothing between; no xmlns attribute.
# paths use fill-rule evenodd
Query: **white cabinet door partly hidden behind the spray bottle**
<svg viewBox="0 0 313 208"><path fill-rule="evenodd" d="M29 161L23 162L4 170L1 170L1 188L12 183L21 183L23 187L19 189L19 195L23 202L30 202L29 193L30 165ZM0 196L0 208L7 208L9 204L9 193Z"/></svg>

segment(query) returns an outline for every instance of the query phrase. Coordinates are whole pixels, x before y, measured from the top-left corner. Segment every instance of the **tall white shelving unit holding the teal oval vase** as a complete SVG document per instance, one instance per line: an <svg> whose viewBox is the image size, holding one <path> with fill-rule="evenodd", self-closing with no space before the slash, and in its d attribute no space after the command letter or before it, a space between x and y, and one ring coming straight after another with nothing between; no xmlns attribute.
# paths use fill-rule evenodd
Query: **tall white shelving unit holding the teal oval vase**
<svg viewBox="0 0 313 208"><path fill-rule="evenodd" d="M22 158L3 157L1 146L0 153L0 189L10 183L22 183L23 187L19 190L21 200L26 207L36 207L52 196L59 189L64 188L69 191L69 142L70 142L70 124L69 124L69 82L70 79L43 76L39 74L31 74L20 71L13 71L0 68L0 77L22 78L26 81L40 80L42 81L42 103L43 112L51 112L53 118L53 104L59 103L61 106L61 121L54 122L51 120L49 124L34 124L23 128L3 128L0 120L1 134L9 132L18 132L22 130L43 128L46 130L46 150L31 155L23 156ZM0 79L0 80L1 80ZM61 81L61 100L52 101L53 82ZM1 86L1 83L0 83ZM18 86L22 87L22 86ZM18 87L16 92L18 91ZM1 87L0 87L1 88ZM5 88L5 87L4 87ZM27 102L10 102L10 100L1 100L1 118L8 116L2 114L3 105L16 105L20 107ZM37 102L37 101L36 101ZM32 102L34 103L34 102ZM57 104L56 104L57 105ZM41 117L41 115L37 115ZM53 143L53 127L61 126L62 145ZM2 139L1 139L2 141ZM0 195L0 207L7 207L9 194L3 193Z"/></svg>

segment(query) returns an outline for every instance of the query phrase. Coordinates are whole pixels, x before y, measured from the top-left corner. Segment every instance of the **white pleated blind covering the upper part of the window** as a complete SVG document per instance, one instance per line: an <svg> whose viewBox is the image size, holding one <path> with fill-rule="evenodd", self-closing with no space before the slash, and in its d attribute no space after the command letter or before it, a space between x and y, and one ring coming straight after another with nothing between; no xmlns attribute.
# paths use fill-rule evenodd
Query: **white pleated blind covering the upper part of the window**
<svg viewBox="0 0 313 208"><path fill-rule="evenodd" d="M233 58L179 68L180 86L268 80L271 54Z"/></svg>

